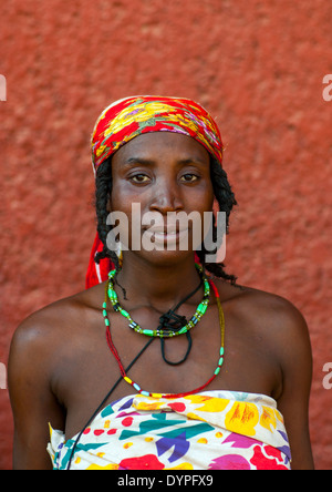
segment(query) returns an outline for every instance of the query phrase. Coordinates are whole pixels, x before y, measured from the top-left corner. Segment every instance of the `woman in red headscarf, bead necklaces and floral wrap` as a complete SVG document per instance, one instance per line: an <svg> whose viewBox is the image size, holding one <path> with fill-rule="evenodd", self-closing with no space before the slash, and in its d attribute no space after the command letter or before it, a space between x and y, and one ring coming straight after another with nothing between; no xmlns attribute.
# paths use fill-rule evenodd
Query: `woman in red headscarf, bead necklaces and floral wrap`
<svg viewBox="0 0 332 492"><path fill-rule="evenodd" d="M92 154L90 288L32 315L12 341L14 468L51 468L48 448L55 469L313 469L303 317L206 263L190 222L187 248L167 223L219 206L228 226L236 201L211 116L190 100L127 98L101 114ZM133 204L162 226L137 228ZM114 211L128 218L117 255ZM133 230L159 247L134 247Z"/></svg>

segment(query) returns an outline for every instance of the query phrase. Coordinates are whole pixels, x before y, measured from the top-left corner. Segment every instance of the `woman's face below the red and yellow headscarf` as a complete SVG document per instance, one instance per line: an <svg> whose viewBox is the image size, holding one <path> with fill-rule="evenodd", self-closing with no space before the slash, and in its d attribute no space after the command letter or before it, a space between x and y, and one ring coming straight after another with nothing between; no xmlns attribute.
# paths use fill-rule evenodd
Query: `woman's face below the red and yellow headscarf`
<svg viewBox="0 0 332 492"><path fill-rule="evenodd" d="M139 135L114 154L112 177L110 208L127 217L118 232L127 234L128 249L159 262L180 259L201 244L214 191L210 156L200 143L170 132Z"/></svg>

